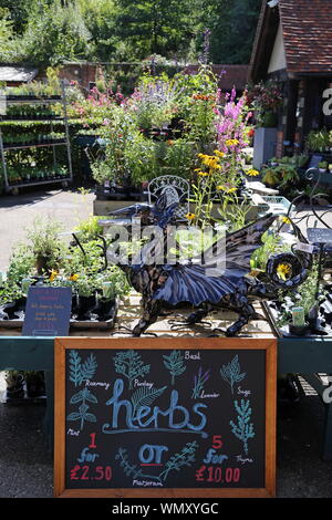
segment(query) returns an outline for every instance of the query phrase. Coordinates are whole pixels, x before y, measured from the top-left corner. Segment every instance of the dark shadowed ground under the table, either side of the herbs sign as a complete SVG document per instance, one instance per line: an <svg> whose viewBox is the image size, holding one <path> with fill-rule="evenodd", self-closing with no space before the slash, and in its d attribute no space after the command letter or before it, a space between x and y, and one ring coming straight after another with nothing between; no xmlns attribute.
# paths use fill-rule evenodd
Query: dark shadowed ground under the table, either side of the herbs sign
<svg viewBox="0 0 332 520"><path fill-rule="evenodd" d="M0 499L51 498L53 458L42 429L44 406L0 403ZM315 395L278 407L277 495L332 498L332 461L320 457L323 405Z"/></svg>

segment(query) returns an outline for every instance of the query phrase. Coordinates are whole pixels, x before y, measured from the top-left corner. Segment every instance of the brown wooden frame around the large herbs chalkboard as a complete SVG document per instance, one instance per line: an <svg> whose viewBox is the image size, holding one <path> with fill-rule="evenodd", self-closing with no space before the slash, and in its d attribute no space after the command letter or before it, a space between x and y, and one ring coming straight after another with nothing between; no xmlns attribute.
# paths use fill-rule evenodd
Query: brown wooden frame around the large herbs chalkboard
<svg viewBox="0 0 332 520"><path fill-rule="evenodd" d="M59 337L55 339L54 497L72 498L272 498L276 496L277 428L276 339L224 337ZM263 488L66 489L65 351L66 350L256 350L266 351L266 485Z"/></svg>

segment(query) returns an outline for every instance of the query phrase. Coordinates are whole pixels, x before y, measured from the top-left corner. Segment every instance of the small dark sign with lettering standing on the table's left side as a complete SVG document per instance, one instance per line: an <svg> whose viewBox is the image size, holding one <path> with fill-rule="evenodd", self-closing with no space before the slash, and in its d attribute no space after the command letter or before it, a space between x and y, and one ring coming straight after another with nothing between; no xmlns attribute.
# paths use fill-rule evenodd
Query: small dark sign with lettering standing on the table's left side
<svg viewBox="0 0 332 520"><path fill-rule="evenodd" d="M71 288L30 287L22 334L25 336L69 335L71 309Z"/></svg>

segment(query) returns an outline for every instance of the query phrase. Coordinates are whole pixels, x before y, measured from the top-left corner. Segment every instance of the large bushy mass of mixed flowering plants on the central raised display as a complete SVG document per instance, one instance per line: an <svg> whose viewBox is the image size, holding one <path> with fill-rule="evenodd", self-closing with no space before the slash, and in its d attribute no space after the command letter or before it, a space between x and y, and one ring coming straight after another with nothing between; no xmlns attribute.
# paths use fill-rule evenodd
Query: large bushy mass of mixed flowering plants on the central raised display
<svg viewBox="0 0 332 520"><path fill-rule="evenodd" d="M137 186L164 174L189 178L197 154L214 149L217 141L218 153L225 156L216 163L222 174L218 185L238 187L242 149L250 141L250 114L246 97L236 101L235 90L226 95L225 106L221 98L216 76L204 64L196 74L176 74L173 79L144 74L127 98L114 93L112 84L104 82L102 90L95 86L84 102L72 106L85 126L97 126L104 138L104 152L92 164L94 179ZM160 132L155 132L157 127Z"/></svg>

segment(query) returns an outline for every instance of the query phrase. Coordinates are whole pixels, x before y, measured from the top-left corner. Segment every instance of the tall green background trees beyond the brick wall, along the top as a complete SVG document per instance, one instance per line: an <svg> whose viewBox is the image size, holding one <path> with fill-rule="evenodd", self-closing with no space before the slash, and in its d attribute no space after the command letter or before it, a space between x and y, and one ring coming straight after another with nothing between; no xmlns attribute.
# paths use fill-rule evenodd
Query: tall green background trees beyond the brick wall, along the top
<svg viewBox="0 0 332 520"><path fill-rule="evenodd" d="M176 70L179 59L197 62L208 27L208 59L248 63L259 9L257 0L2 0L0 60L128 62L155 54Z"/></svg>

